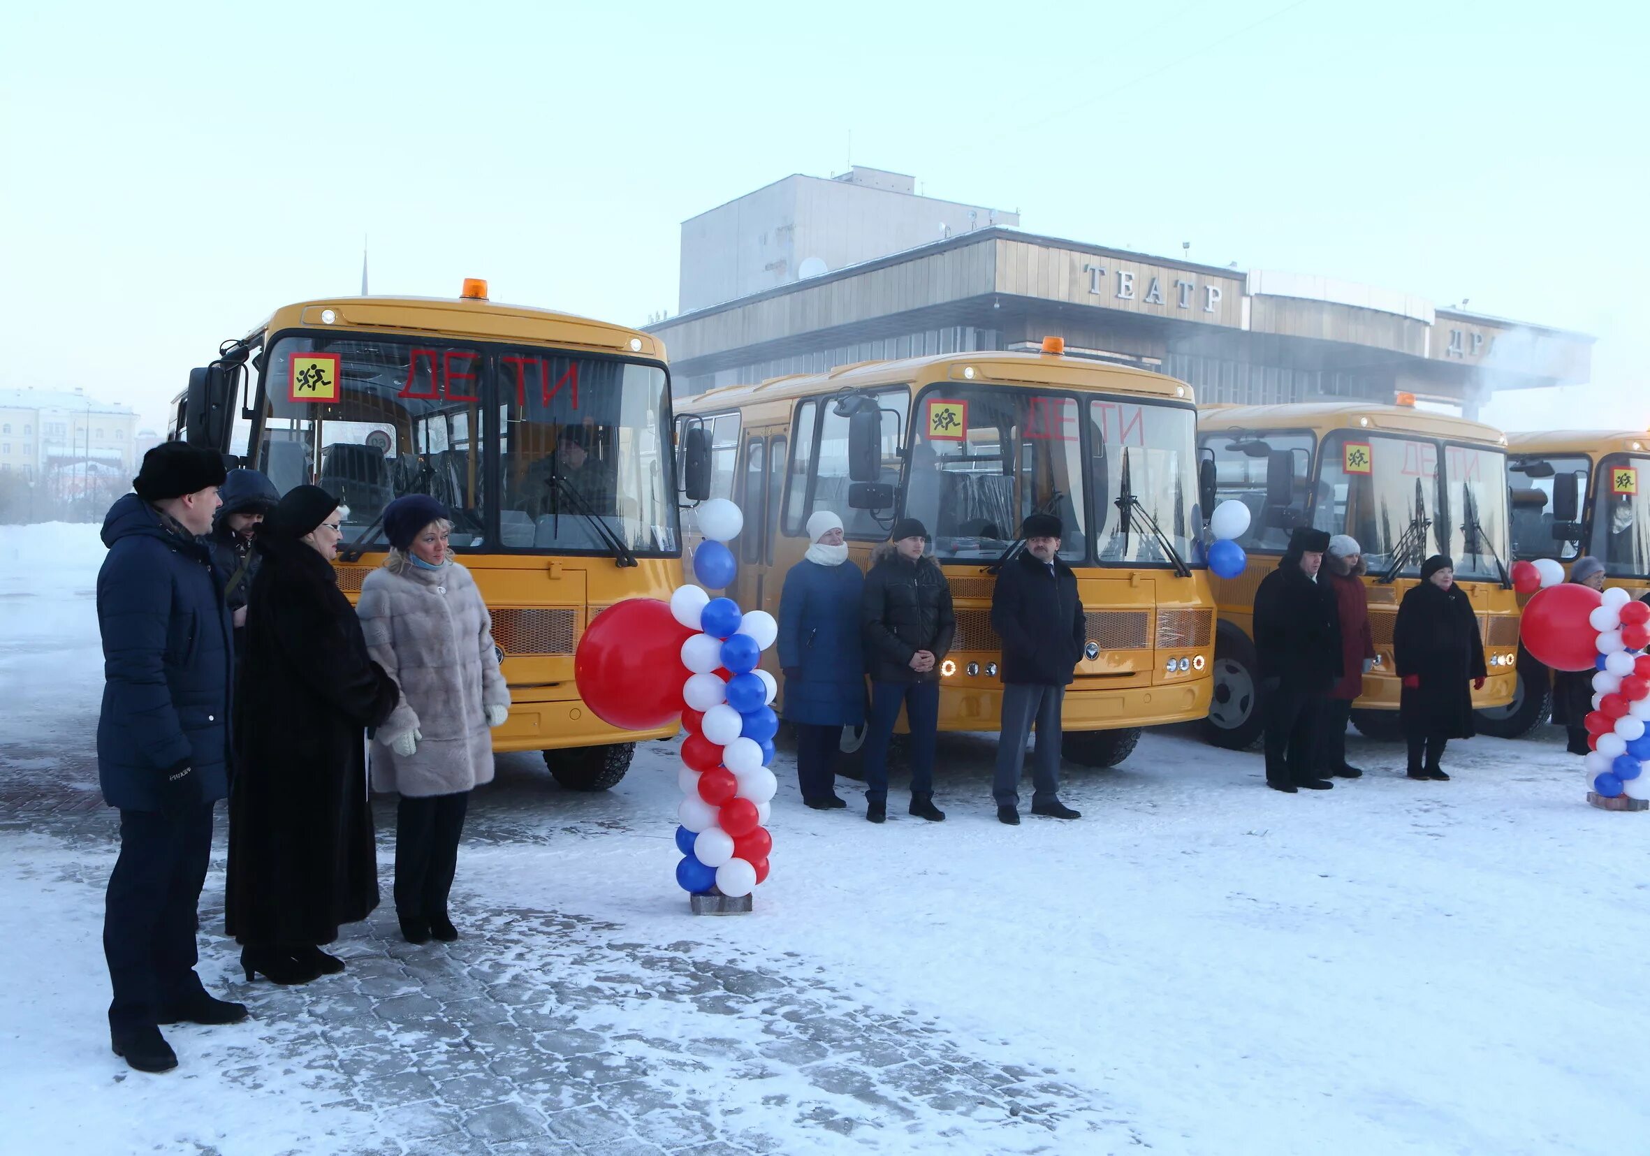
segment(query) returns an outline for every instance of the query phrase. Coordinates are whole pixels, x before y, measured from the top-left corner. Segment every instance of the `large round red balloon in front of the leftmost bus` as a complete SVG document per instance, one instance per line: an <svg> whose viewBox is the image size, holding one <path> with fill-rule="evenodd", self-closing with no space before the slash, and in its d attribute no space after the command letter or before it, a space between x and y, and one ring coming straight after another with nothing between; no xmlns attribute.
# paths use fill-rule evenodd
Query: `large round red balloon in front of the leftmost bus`
<svg viewBox="0 0 1650 1156"><path fill-rule="evenodd" d="M693 632L658 599L627 599L602 610L579 638L573 681L602 722L652 731L681 714L681 643Z"/></svg>

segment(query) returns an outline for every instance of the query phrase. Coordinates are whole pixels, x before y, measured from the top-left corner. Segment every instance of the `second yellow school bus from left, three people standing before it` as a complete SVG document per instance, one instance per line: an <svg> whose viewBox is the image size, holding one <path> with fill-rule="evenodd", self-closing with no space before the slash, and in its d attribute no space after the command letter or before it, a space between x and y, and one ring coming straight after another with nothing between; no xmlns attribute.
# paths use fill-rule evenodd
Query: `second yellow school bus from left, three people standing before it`
<svg viewBox="0 0 1650 1156"><path fill-rule="evenodd" d="M940 666L944 731L997 729L995 569L1018 549L1028 513L1058 515L1089 623L1064 750L1109 767L1140 727L1208 711L1214 602L1198 549L1196 409L1185 383L1059 350L1049 340L1044 353L873 361L724 386L678 401L678 442L710 453L710 493L744 511L729 590L744 609L777 617L817 510L843 519L861 567L898 518L927 526L957 612ZM845 731L843 749L861 737Z"/></svg>

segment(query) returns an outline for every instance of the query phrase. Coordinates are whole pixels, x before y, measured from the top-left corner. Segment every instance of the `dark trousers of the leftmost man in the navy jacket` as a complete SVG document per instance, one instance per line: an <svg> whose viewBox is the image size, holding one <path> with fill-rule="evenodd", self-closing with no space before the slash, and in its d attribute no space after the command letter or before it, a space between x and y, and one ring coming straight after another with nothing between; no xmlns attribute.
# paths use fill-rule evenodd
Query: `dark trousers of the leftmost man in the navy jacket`
<svg viewBox="0 0 1650 1156"><path fill-rule="evenodd" d="M165 1004L201 988L195 914L211 861L211 803L186 815L120 811L120 858L104 900L109 1026L155 1024Z"/></svg>

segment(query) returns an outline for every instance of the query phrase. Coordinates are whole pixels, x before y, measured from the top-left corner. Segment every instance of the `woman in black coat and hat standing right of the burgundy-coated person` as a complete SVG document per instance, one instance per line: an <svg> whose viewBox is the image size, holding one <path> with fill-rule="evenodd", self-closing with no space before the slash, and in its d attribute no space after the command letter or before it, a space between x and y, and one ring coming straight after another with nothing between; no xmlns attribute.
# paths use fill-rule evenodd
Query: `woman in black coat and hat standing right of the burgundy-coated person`
<svg viewBox="0 0 1650 1156"><path fill-rule="evenodd" d="M1447 780L1439 765L1444 745L1473 735L1472 688L1483 686L1488 668L1478 617L1455 585L1455 564L1442 554L1422 562L1421 585L1398 607L1393 658L1404 688L1398 711L1409 744L1409 777Z"/></svg>

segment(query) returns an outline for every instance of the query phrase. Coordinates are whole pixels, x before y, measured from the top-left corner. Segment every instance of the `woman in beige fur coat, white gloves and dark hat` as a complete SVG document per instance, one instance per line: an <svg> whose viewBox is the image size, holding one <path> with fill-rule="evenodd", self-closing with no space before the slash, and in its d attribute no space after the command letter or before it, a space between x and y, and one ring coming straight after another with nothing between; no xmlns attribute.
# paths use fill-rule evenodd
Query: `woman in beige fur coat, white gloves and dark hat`
<svg viewBox="0 0 1650 1156"><path fill-rule="evenodd" d="M493 778L490 727L510 691L492 617L447 547L447 510L421 493L384 506L389 556L361 582L361 630L401 701L373 735L373 787L399 792L396 915L411 943L455 940L447 894L470 790Z"/></svg>

